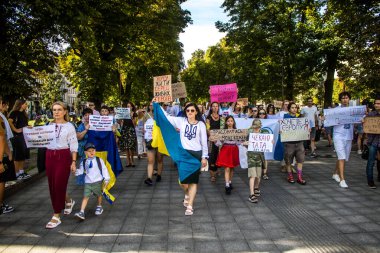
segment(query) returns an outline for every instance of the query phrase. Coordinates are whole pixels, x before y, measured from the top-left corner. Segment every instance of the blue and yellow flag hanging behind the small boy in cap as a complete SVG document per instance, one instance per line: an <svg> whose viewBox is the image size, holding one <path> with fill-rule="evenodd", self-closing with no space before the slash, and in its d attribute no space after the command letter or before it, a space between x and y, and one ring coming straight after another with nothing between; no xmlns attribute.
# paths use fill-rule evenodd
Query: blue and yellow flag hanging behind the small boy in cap
<svg viewBox="0 0 380 253"><path fill-rule="evenodd" d="M123 171L119 152L115 141L115 136L112 131L88 131L87 142L91 142L96 147L96 156L103 159L108 173L110 174L110 181L104 189L104 198L112 204L115 197L112 196L110 190L116 183L116 177Z"/></svg>

